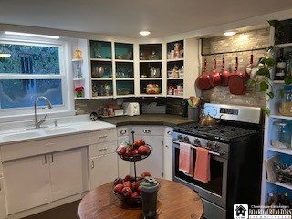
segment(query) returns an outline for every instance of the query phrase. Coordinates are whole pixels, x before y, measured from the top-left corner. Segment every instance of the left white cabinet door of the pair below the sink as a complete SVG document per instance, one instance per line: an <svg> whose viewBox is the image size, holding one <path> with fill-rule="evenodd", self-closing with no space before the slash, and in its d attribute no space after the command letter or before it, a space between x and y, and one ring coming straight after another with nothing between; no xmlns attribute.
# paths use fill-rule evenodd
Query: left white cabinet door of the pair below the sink
<svg viewBox="0 0 292 219"><path fill-rule="evenodd" d="M3 163L8 214L51 202L49 164L45 155Z"/></svg>

